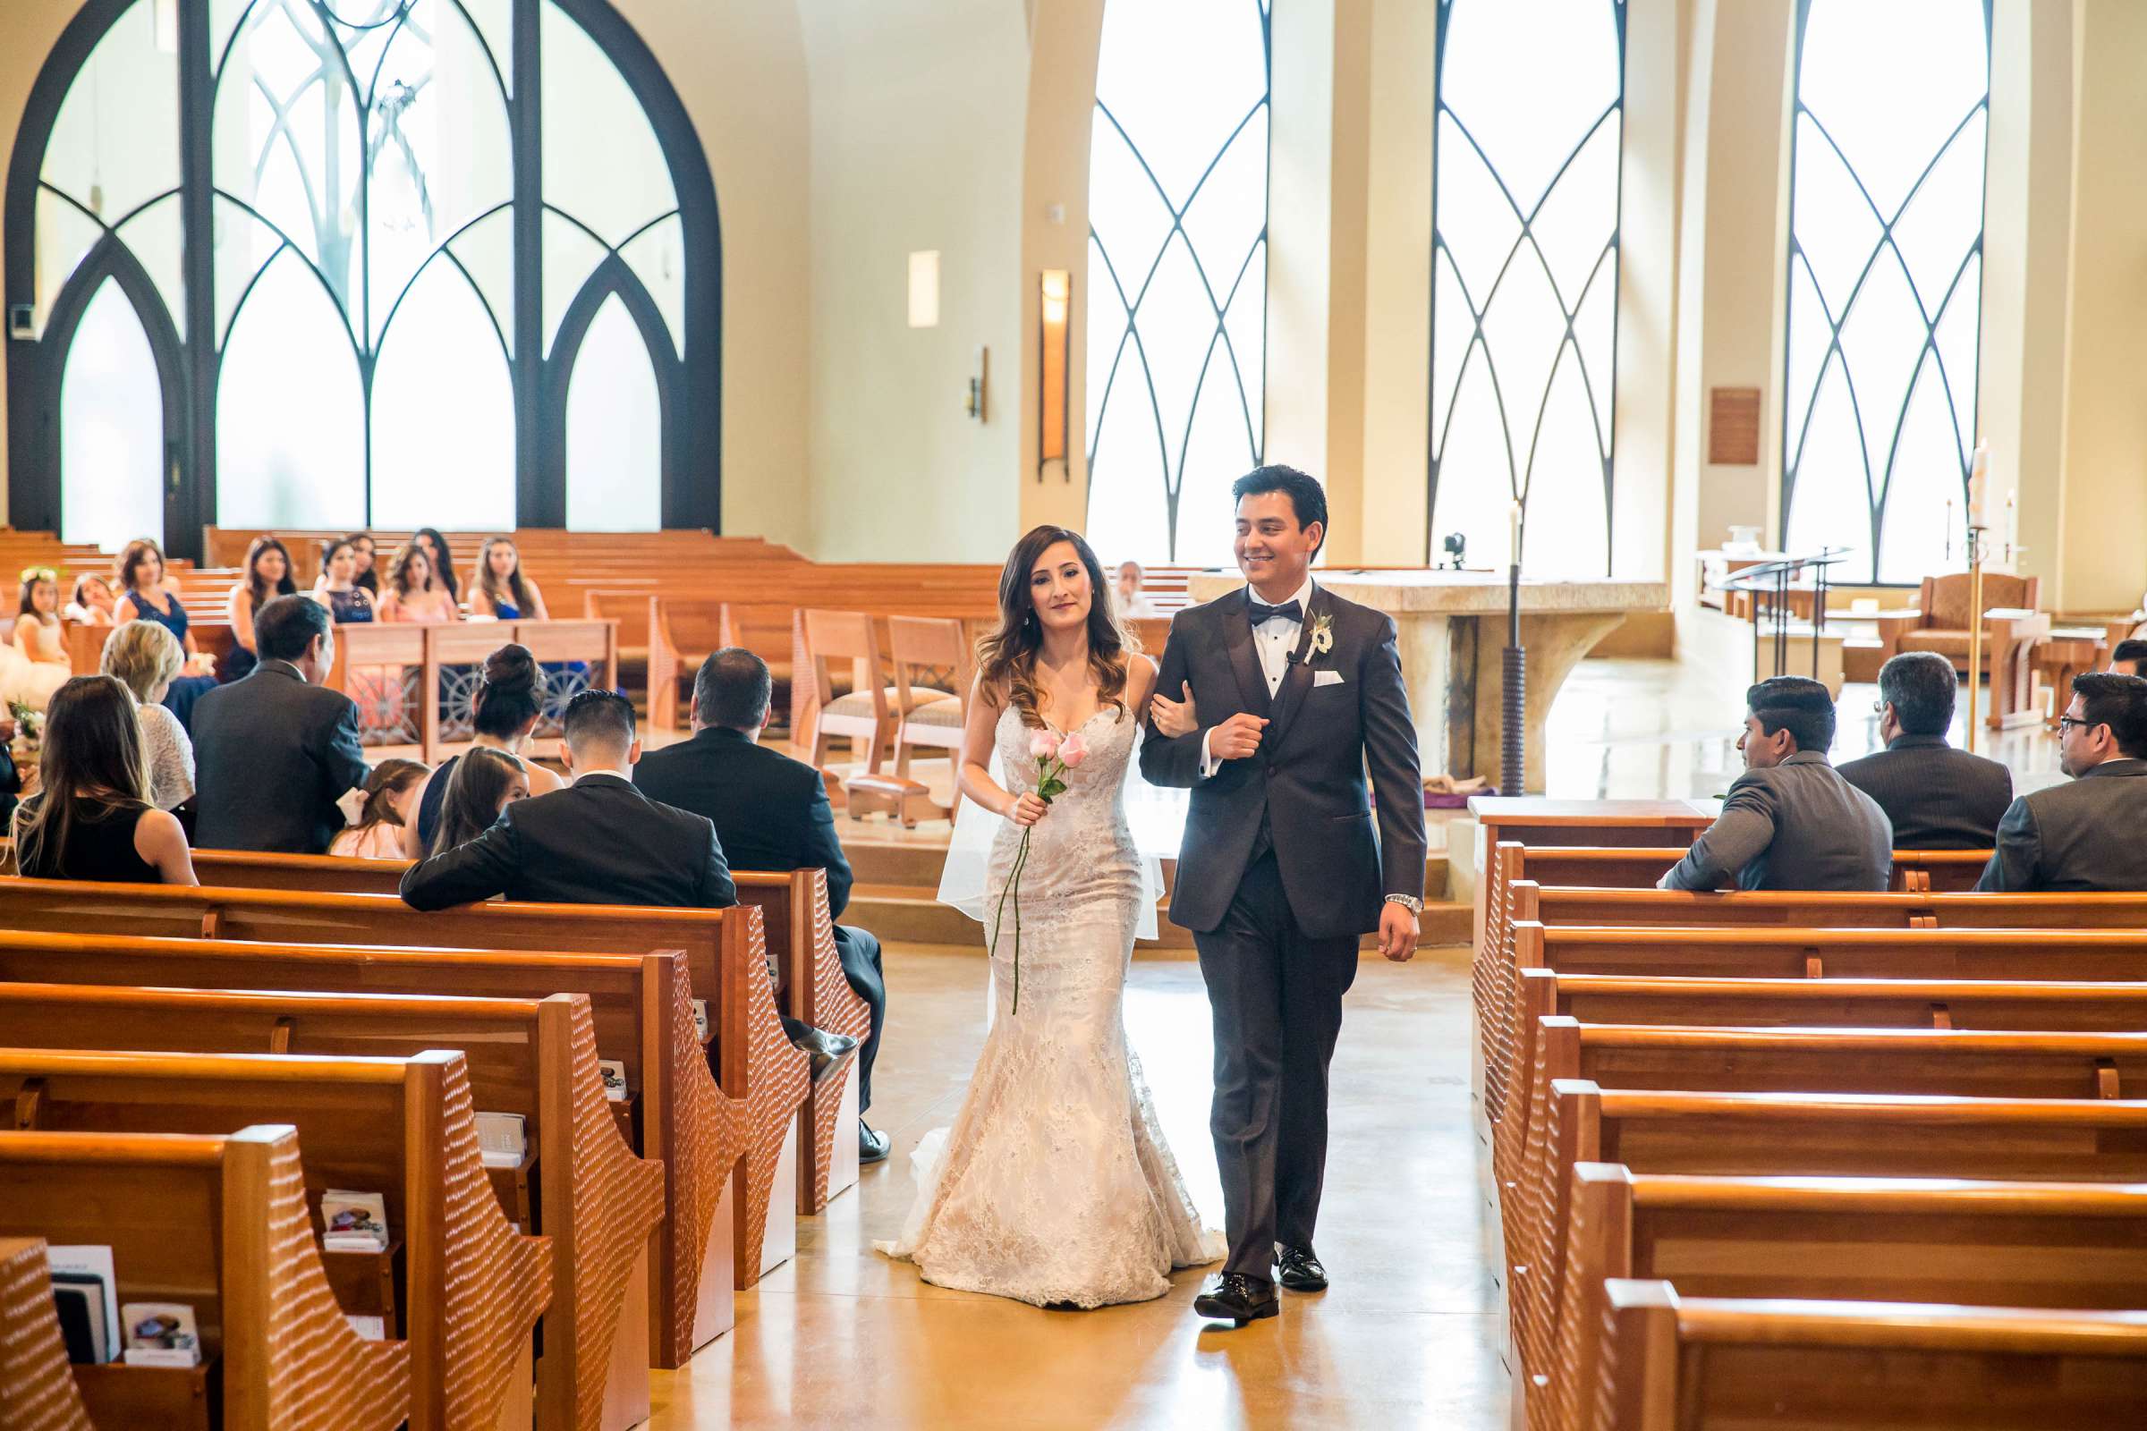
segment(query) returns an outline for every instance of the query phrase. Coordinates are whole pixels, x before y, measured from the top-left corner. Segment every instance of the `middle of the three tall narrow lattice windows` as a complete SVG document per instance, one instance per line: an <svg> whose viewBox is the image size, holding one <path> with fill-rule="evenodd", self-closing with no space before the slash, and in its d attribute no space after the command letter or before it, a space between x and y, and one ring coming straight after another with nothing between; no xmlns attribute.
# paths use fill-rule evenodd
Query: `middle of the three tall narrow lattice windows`
<svg viewBox="0 0 2147 1431"><path fill-rule="evenodd" d="M1623 0L1438 0L1426 560L1610 569Z"/></svg>

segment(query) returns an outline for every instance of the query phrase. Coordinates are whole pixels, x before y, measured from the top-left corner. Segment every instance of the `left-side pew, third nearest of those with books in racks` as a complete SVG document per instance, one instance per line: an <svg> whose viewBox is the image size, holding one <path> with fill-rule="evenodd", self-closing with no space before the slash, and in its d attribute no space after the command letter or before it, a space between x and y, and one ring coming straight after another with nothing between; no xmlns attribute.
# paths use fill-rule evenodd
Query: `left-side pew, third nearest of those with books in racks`
<svg viewBox="0 0 2147 1431"><path fill-rule="evenodd" d="M526 1124L530 1156L494 1171L498 1201L511 1221L552 1240L537 1427L620 1425L646 1412L648 1319L638 1309L648 1300L642 1253L663 1219L663 1169L633 1156L610 1111L586 993L479 1000L125 987L137 976L170 978L172 968L150 968L165 953L107 940L52 959L69 978L92 983L0 983L0 1045L397 1058L459 1049L470 1105L520 1113ZM225 963L213 974L234 970ZM636 1311L623 1319L629 1302Z"/></svg>

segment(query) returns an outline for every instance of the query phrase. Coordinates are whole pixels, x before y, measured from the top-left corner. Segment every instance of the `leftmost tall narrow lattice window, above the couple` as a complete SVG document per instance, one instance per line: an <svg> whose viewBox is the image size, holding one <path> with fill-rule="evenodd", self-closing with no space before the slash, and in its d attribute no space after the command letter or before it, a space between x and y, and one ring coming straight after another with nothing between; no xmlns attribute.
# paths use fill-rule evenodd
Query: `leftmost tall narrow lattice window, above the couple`
<svg viewBox="0 0 2147 1431"><path fill-rule="evenodd" d="M1230 483L1267 446L1267 0L1106 4L1086 333L1110 560L1230 562Z"/></svg>

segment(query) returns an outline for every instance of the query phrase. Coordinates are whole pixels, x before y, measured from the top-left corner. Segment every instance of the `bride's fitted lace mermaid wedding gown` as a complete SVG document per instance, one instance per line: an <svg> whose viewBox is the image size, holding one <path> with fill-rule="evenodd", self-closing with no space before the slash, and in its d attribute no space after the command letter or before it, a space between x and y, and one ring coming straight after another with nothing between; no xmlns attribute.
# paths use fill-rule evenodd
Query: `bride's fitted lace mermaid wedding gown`
<svg viewBox="0 0 2147 1431"><path fill-rule="evenodd" d="M951 1131L915 1154L917 1201L882 1253L938 1287L1022 1302L1144 1302L1174 1268L1217 1262L1155 1122L1125 1041L1125 968L1144 882L1123 787L1140 738L1106 706L1082 727L1089 759L1035 824L1022 871L1022 1006L1013 1010L1013 899L992 957L992 1032ZM1028 729L998 717L998 768L1035 787ZM985 940L1022 841L1005 822L985 877Z"/></svg>

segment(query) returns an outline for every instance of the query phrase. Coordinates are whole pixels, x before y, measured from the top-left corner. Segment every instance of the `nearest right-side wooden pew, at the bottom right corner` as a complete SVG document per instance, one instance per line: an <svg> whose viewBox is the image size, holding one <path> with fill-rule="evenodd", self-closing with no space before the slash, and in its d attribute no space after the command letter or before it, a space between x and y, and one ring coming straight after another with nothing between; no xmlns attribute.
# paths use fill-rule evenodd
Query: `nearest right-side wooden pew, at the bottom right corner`
<svg viewBox="0 0 2147 1431"><path fill-rule="evenodd" d="M2147 1313L1681 1298L1612 1281L1593 1427L2147 1425Z"/></svg>

